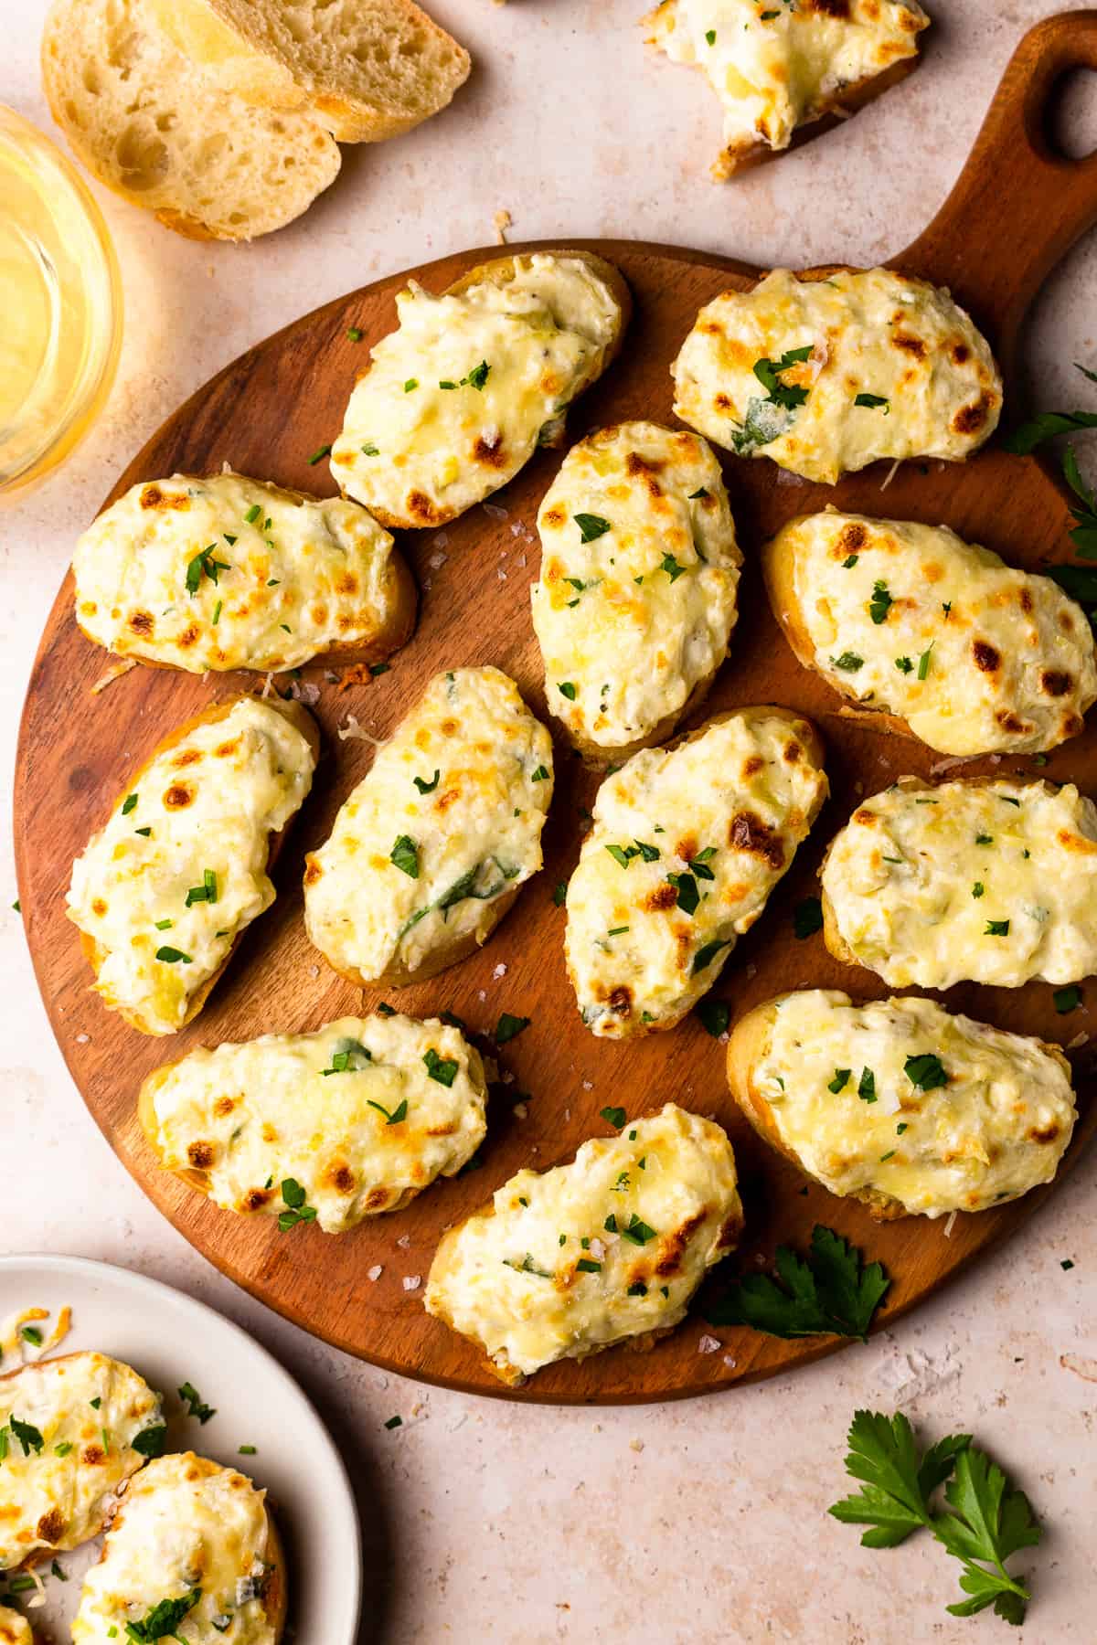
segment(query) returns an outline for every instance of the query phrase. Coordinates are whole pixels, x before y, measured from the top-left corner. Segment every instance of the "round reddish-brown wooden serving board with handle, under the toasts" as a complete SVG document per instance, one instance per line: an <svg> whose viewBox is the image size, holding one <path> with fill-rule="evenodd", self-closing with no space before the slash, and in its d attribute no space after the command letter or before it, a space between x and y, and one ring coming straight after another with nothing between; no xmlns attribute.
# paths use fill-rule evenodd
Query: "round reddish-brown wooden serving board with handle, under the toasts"
<svg viewBox="0 0 1097 1645"><path fill-rule="evenodd" d="M1007 378L1030 298L1072 240L1097 220L1097 158L1061 160L1043 138L1056 82L1076 64L1097 67L1097 12L1051 18L1026 36L952 196L921 239L895 258L895 266L952 288L995 342ZM561 235L544 247L567 243ZM620 360L574 408L569 439L625 418L673 421L668 368L697 308L729 286L747 290L757 270L674 247L581 243L623 271L636 314ZM467 252L411 273L439 291L490 255ZM405 280L395 275L329 303L242 355L168 419L107 502L135 480L176 469L212 472L225 461L283 485L332 490L327 466L309 467L308 457L340 428L355 372L365 364L368 344L391 329L393 294ZM350 342L347 327L360 327L363 341ZM516 908L479 956L400 994L363 994L336 977L312 951L301 921L303 855L326 839L337 806L372 758L368 744L336 735L347 714L385 737L436 670L495 663L554 724L544 711L530 582L539 564L536 508L558 464L559 454L539 452L492 503L472 508L444 533L405 536L401 546L416 571L423 604L418 632L393 658L390 673L340 691L324 679L322 666L306 671L306 683L319 684L314 712L324 732L324 758L276 869L278 901L247 933L209 1005L184 1033L143 1038L89 992L77 933L64 918L64 895L72 859L105 819L128 773L171 727L211 699L253 686L253 678L194 679L135 668L100 696L90 696L107 658L77 632L72 586L66 581L28 689L15 791L23 918L43 999L90 1112L145 1191L222 1272L308 1331L410 1377L497 1395L507 1390L479 1354L429 1319L421 1290L405 1290L403 1280L419 1275L426 1283L441 1232L515 1170L567 1158L586 1137L607 1133L599 1119L605 1105L625 1107L635 1117L674 1099L714 1114L734 1138L747 1207L745 1240L729 1270L740 1265L755 1272L757 1262L768 1263L778 1242L803 1249L812 1224L824 1222L886 1265L893 1285L880 1314L883 1324L1003 1240L1051 1191L960 1216L951 1234L944 1222L918 1217L877 1226L862 1206L804 1188L791 1166L755 1140L727 1094L724 1046L696 1018L673 1033L623 1045L592 1038L579 1022L566 979L564 911L553 905L553 887L574 867L581 813L590 806L597 783L559 739L544 872L523 888ZM735 949L714 992L730 1002L734 1017L803 985L878 997L885 990L877 979L831 959L821 936L796 941L793 908L816 892L824 847L857 799L905 772L931 775L937 757L844 716L829 688L799 668L770 615L758 546L789 515L834 502L839 508L931 525L946 521L1008 561L1036 568L1071 558L1066 494L1041 461L997 449L962 467L906 464L886 490L882 466L834 489L785 484L766 461L725 457L724 467L747 563L732 655L704 712L781 702L811 716L826 739L834 793L765 918ZM288 688L289 679L281 684ZM1036 767L1031 760L1002 760L982 762L975 770L1011 775L1035 773ZM1090 725L1056 750L1039 775L1074 780L1097 795L1097 729ZM1087 992L1090 1008L1097 1007L1097 989ZM526 1105L515 1112L505 1094L493 1096L479 1170L436 1184L396 1216L372 1219L332 1239L314 1227L281 1234L273 1221L217 1211L156 1168L138 1128L135 1096L160 1063L196 1045L317 1028L344 1013L368 1012L385 997L418 1015L457 1012L488 1038L503 1010L533 1020L498 1056L513 1076L510 1096L528 1092ZM1058 1017L1051 989L1038 984L1011 992L957 987L947 1003L1002 1028L1058 1041L1069 1041L1092 1022L1082 1013ZM1062 1171L1097 1128L1097 1074L1089 1050L1076 1053L1076 1073L1082 1117ZM367 1270L375 1263L383 1272L372 1283ZM783 1342L735 1329L719 1332L720 1352L701 1354L706 1329L694 1314L646 1355L613 1349L582 1365L564 1362L507 1397L561 1403L671 1398L771 1375L839 1346L832 1339Z"/></svg>

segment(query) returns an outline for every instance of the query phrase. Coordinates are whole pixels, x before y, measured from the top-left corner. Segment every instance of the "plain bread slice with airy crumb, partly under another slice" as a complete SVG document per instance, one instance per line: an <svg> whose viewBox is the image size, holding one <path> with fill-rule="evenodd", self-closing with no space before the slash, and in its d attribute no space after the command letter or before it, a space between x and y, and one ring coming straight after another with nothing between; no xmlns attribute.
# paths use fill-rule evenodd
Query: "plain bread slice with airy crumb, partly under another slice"
<svg viewBox="0 0 1097 1645"><path fill-rule="evenodd" d="M168 39L148 0L54 0L41 43L53 117L107 188L192 240L252 240L334 181L306 115L257 112Z"/></svg>

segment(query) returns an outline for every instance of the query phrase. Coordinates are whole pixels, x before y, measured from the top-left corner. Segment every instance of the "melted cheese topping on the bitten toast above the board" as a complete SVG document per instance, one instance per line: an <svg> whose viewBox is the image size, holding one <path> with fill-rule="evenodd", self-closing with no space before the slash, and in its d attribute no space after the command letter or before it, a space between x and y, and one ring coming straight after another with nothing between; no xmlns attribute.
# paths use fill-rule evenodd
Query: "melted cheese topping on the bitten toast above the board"
<svg viewBox="0 0 1097 1645"><path fill-rule="evenodd" d="M788 148L860 81L918 54L929 18L916 0L663 0L645 20L648 41L674 63L704 69L724 105L727 178L760 141Z"/></svg>

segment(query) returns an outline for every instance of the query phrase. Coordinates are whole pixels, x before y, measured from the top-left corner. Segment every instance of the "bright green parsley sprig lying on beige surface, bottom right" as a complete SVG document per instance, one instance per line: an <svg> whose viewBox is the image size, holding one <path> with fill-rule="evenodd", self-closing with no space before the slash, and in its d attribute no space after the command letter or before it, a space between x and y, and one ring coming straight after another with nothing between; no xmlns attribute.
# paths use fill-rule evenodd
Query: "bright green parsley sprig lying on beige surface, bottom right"
<svg viewBox="0 0 1097 1645"><path fill-rule="evenodd" d="M949 1434L921 1456L914 1431L898 1411L857 1411L849 1431L845 1471L862 1489L829 1512L845 1525L867 1525L863 1548L896 1548L926 1528L960 1561L965 1599L947 1606L954 1617L972 1617L993 1606L1005 1622L1020 1625L1030 1591L1007 1571L1005 1561L1035 1546L1043 1531L1023 1490L1015 1490L970 1434ZM947 1480L947 1484L946 1484ZM937 1512L933 1494L944 1485L952 1512Z"/></svg>

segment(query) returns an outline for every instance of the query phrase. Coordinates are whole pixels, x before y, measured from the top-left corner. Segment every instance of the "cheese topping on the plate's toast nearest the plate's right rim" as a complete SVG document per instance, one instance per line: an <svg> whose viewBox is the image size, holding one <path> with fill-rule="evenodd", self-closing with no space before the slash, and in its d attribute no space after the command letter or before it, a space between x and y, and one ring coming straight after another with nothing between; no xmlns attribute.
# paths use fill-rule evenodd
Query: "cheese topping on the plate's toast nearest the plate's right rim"
<svg viewBox="0 0 1097 1645"><path fill-rule="evenodd" d="M199 1592L179 1637L187 1645L275 1645L262 1591L266 1492L232 1467L186 1451L150 1462L130 1484L84 1578L72 1645L127 1638L164 1599Z"/></svg>

